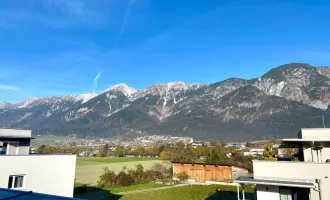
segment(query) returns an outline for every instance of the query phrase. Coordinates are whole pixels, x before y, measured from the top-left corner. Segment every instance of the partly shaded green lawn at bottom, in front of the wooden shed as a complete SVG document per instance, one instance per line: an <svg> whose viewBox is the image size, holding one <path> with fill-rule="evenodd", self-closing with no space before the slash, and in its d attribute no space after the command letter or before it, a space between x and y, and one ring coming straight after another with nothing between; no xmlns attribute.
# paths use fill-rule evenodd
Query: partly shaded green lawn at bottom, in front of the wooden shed
<svg viewBox="0 0 330 200"><path fill-rule="evenodd" d="M220 192L217 192L220 190ZM246 191L247 199L254 199L254 195ZM110 194L107 191L87 193L77 196L85 199L109 199L109 200L236 200L235 186L221 185L192 185L175 187L164 190L132 193L126 195Z"/></svg>

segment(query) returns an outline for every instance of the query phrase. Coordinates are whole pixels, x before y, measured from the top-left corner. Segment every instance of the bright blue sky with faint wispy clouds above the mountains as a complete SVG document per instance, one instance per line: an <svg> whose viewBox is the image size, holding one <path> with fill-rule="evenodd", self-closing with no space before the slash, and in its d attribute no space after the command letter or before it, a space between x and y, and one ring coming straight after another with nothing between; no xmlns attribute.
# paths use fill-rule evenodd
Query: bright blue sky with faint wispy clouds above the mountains
<svg viewBox="0 0 330 200"><path fill-rule="evenodd" d="M328 66L329 1L1 0L0 101Z"/></svg>

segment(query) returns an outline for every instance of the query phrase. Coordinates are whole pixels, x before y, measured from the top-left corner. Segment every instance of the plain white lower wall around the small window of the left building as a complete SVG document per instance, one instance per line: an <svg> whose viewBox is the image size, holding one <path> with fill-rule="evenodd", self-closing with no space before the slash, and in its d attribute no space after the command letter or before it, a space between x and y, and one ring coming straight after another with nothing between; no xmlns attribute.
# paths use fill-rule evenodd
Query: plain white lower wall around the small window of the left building
<svg viewBox="0 0 330 200"><path fill-rule="evenodd" d="M25 174L24 190L73 197L75 155L0 156L0 187L10 175Z"/></svg>

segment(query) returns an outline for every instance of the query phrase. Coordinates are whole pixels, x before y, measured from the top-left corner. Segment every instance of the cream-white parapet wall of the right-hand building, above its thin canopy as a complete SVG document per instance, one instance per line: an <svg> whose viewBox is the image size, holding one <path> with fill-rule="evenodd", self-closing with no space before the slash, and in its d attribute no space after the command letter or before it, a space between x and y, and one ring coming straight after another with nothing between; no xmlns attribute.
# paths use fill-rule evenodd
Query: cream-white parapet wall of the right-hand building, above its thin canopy
<svg viewBox="0 0 330 200"><path fill-rule="evenodd" d="M254 177L283 179L321 179L322 198L330 199L330 164L309 162L253 161ZM311 191L313 200L319 200L318 192Z"/></svg>

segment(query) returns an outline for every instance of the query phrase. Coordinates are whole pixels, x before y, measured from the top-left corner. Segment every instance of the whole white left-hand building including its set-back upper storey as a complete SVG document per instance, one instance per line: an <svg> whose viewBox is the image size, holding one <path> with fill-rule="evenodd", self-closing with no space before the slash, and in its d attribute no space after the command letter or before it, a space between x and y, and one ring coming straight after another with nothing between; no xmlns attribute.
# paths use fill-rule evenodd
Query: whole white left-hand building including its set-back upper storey
<svg viewBox="0 0 330 200"><path fill-rule="evenodd" d="M76 156L30 154L31 133L0 129L0 188L73 197Z"/></svg>

